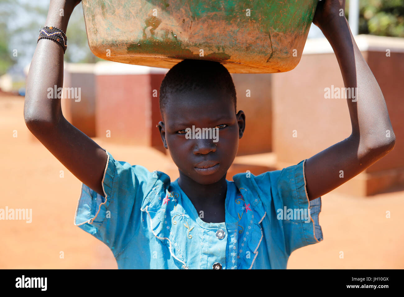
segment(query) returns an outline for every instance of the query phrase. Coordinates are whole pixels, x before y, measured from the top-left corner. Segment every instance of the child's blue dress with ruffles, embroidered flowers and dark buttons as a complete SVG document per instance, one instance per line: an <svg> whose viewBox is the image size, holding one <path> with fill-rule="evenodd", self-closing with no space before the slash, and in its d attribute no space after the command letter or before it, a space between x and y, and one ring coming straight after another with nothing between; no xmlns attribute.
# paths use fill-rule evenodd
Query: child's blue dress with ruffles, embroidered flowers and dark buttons
<svg viewBox="0 0 404 297"><path fill-rule="evenodd" d="M74 224L104 242L119 269L286 269L290 253L322 240L321 197L307 197L305 160L234 175L225 222L206 223L178 179L105 152L105 198L82 184Z"/></svg>

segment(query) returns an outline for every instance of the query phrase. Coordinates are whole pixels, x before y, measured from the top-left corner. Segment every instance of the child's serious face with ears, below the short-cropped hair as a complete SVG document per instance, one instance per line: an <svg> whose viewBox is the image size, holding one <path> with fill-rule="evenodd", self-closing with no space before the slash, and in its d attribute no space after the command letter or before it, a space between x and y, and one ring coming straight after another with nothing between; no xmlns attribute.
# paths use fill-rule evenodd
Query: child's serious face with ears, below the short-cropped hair
<svg viewBox="0 0 404 297"><path fill-rule="evenodd" d="M180 174L197 183L216 183L227 173L236 157L238 139L245 128L245 116L241 110L235 113L234 103L226 98L228 96L209 90L203 94L188 91L175 95L169 98L163 111L164 122L159 122L164 147L168 148ZM192 130L193 125L195 132L197 128L219 129L215 136L211 134L210 139L196 139L196 133L195 138L187 139L185 129ZM203 164L203 161L207 162Z"/></svg>

